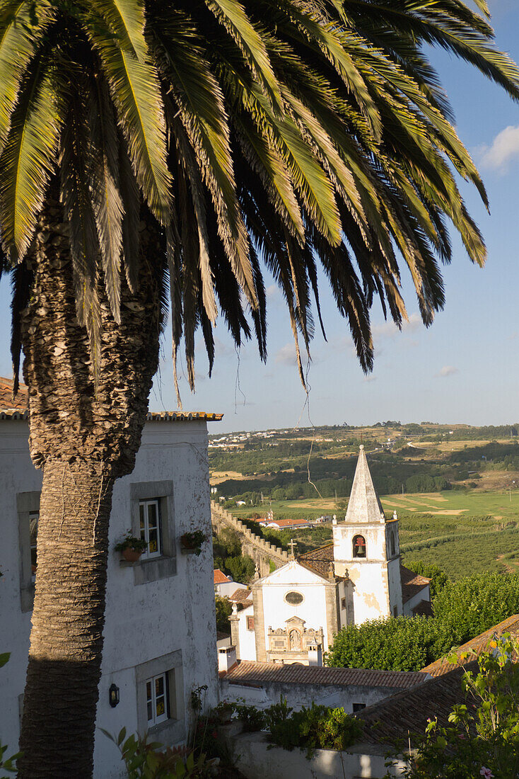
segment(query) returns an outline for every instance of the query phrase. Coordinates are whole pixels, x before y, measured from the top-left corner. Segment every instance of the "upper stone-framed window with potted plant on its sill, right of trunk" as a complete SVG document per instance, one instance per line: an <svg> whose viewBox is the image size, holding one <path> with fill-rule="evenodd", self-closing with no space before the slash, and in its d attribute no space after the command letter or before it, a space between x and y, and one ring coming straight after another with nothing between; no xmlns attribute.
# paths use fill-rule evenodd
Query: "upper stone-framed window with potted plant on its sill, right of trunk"
<svg viewBox="0 0 519 779"><path fill-rule="evenodd" d="M133 583L146 584L177 573L173 481L140 481L130 485L132 533L149 546L132 564ZM121 563L128 566L128 563Z"/></svg>

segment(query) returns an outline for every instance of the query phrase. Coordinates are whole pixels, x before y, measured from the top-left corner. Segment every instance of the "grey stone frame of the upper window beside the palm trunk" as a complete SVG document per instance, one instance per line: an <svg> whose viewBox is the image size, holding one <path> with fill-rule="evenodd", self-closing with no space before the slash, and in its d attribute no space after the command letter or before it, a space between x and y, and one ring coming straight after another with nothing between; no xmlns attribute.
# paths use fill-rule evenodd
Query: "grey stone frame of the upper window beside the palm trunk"
<svg viewBox="0 0 519 779"><path fill-rule="evenodd" d="M166 579L177 574L177 539L175 534L173 481L137 481L130 485L132 534L141 538L140 504L159 503L160 555L142 555L139 562L121 562L122 567L133 568L135 586Z"/></svg>

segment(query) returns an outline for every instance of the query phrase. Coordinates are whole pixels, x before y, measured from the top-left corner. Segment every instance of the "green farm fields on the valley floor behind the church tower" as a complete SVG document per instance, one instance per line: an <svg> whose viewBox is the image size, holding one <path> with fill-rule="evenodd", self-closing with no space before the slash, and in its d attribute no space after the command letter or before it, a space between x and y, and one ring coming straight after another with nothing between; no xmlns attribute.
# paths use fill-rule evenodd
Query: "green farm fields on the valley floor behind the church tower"
<svg viewBox="0 0 519 779"><path fill-rule="evenodd" d="M453 579L470 573L519 569L519 492L447 492L415 495L383 495L386 516L396 509L400 519L400 543L405 562L434 562ZM275 517L311 519L337 513L335 502L321 499L265 502ZM239 516L261 509L236 509ZM342 520L344 511L338 513ZM329 527L329 525L328 525ZM322 531L319 543L322 543ZM293 531L310 541L314 531ZM331 534L331 528L330 528ZM282 535L283 540L288 534Z"/></svg>

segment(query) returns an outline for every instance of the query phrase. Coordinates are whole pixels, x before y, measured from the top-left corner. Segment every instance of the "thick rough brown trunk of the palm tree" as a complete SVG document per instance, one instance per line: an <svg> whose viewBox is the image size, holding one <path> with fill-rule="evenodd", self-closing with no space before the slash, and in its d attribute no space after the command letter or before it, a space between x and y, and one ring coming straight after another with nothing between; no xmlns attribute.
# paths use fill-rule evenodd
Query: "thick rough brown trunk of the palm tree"
<svg viewBox="0 0 519 779"><path fill-rule="evenodd" d="M122 285L121 324L98 284L103 335L94 387L75 315L68 225L52 199L40 217L22 324L30 451L44 479L20 779L93 772L111 495L115 479L133 470L158 365L163 252L151 223L141 227L139 293Z"/></svg>

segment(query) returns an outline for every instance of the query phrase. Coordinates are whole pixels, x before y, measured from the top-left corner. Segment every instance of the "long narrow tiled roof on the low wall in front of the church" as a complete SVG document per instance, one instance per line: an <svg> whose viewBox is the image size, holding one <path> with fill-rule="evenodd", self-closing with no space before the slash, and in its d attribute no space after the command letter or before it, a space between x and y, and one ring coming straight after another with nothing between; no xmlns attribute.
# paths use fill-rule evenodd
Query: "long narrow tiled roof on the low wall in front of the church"
<svg viewBox="0 0 519 779"><path fill-rule="evenodd" d="M317 665L282 665L242 660L227 671L225 679L231 684L280 682L409 689L423 684L427 676L420 671L366 671L364 668L323 668Z"/></svg>

